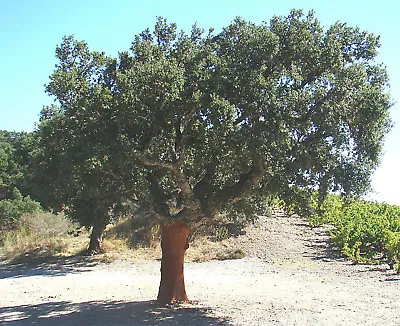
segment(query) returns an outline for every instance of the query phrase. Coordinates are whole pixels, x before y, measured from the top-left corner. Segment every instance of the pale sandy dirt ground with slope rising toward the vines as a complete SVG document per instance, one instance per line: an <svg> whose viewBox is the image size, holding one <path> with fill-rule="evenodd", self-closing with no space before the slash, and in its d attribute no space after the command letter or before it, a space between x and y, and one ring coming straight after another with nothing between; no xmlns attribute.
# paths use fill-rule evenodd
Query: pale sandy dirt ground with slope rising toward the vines
<svg viewBox="0 0 400 326"><path fill-rule="evenodd" d="M0 325L400 325L400 276L352 265L327 239L264 217L222 244L246 258L186 263L193 301L173 306L154 301L159 261L0 264Z"/></svg>

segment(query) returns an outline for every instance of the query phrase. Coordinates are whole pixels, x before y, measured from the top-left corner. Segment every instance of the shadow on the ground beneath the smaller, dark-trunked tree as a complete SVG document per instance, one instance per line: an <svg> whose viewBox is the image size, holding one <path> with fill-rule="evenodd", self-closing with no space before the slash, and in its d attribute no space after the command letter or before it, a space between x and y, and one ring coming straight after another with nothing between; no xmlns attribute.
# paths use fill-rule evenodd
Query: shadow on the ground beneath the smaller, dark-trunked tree
<svg viewBox="0 0 400 326"><path fill-rule="evenodd" d="M0 263L0 279L27 276L62 276L89 272L98 262L91 257L38 258L25 263Z"/></svg>

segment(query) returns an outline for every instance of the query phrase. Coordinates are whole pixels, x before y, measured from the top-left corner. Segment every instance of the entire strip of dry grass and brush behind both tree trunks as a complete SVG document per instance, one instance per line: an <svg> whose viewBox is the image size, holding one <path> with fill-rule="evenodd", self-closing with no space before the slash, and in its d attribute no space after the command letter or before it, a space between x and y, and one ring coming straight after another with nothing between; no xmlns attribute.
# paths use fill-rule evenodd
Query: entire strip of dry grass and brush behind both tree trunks
<svg viewBox="0 0 400 326"><path fill-rule="evenodd" d="M63 214L40 213L21 218L16 230L3 239L0 254L4 260L23 262L46 257L84 255L89 232L71 223ZM238 235L241 227L232 223L204 224L189 236L186 260L203 262L213 259L238 259L244 253L227 241ZM94 257L103 263L116 260L142 261L161 258L161 231L155 221L146 216L121 219L110 225L103 239L103 253Z"/></svg>

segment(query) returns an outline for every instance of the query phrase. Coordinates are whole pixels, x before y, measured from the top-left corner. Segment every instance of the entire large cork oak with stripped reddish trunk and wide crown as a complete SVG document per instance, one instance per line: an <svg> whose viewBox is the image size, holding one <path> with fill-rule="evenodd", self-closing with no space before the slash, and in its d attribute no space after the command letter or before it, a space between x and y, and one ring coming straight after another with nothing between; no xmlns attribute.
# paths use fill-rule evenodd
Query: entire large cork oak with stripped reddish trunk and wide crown
<svg viewBox="0 0 400 326"><path fill-rule="evenodd" d="M390 128L379 45L296 10L259 25L237 18L218 34L159 18L115 59L66 37L47 86L60 107L40 127L57 136L42 146L81 199L101 192L110 208L111 194L130 193L153 209L158 300L187 300L184 253L200 221L249 218L268 196L304 213L315 191L368 189Z"/></svg>

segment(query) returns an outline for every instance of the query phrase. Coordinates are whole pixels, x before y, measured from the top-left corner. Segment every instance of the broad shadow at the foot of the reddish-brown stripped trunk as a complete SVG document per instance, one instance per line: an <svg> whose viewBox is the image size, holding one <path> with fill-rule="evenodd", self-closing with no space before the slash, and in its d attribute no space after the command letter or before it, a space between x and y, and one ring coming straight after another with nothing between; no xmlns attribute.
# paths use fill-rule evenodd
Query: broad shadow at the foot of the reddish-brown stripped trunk
<svg viewBox="0 0 400 326"><path fill-rule="evenodd" d="M0 308L0 325L229 325L196 304L156 301L68 301Z"/></svg>

